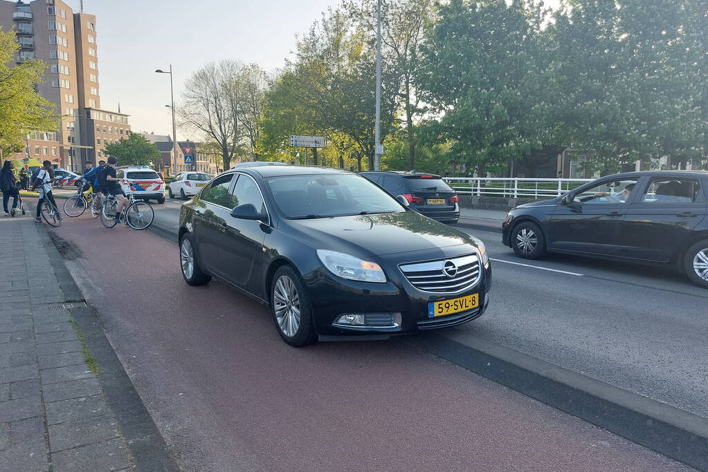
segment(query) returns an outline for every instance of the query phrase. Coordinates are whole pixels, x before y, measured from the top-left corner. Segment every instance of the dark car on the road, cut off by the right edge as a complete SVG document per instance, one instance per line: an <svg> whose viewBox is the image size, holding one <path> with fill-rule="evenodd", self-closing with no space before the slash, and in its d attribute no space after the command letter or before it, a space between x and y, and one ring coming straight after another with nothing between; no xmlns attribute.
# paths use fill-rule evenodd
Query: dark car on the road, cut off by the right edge
<svg viewBox="0 0 708 472"><path fill-rule="evenodd" d="M666 266L708 288L708 172L627 172L518 206L503 243L526 259L561 252Z"/></svg>

